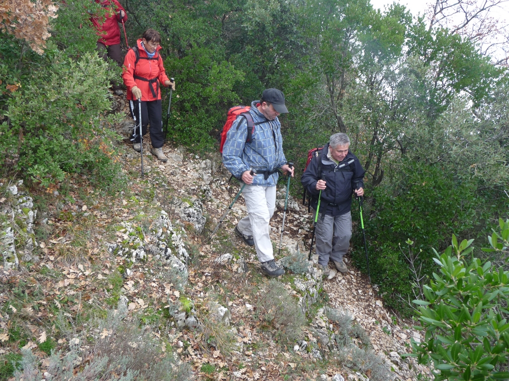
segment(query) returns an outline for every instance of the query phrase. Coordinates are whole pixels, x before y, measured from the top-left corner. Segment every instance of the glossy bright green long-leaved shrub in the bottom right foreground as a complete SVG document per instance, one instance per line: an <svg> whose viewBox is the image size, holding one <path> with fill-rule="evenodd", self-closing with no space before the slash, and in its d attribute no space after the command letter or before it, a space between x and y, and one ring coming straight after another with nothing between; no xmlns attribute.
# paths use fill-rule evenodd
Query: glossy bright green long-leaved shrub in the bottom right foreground
<svg viewBox="0 0 509 381"><path fill-rule="evenodd" d="M499 226L488 250L507 255L509 220ZM509 378L509 271L473 258L472 241L453 235L442 255L435 252L440 271L423 289L426 300L414 300L425 338L412 340L413 356L433 363L435 380Z"/></svg>

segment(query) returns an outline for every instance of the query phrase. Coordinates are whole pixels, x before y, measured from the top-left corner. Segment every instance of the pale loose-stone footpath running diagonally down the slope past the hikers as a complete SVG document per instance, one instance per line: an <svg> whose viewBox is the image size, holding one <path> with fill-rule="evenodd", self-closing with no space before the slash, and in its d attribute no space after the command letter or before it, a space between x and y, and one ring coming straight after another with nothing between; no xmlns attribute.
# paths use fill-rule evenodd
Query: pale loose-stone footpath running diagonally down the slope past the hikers
<svg viewBox="0 0 509 381"><path fill-rule="evenodd" d="M147 146L148 148L148 146ZM127 148L127 156L131 158L133 166L139 167L139 154L130 152ZM145 150L148 152L148 149ZM202 160L195 154L183 154L181 149L165 146L164 153L168 156L167 163L154 163L156 171L167 176L167 184L186 197L199 198L204 193L210 192L210 201L204 203L204 214L211 220L211 227L216 226L220 216L227 210L233 198L240 189L240 185L230 180L230 173L221 165L220 158L215 160ZM149 167L150 168L150 167ZM279 181L276 200L276 211L271 219L271 239L277 253L280 239L280 227L282 224L285 186ZM233 232L233 227L238 220L246 214L242 197L232 207L216 235L229 234L232 244L239 247L245 253L245 261L259 270L259 262L254 249L246 246ZM209 232L210 232L209 229ZM309 250L310 235L312 229L312 216L307 207L296 202L290 196L288 211L285 219L285 232L283 234L283 249L294 251L298 248L307 253ZM306 242L306 244L304 244ZM305 247L304 247L305 246ZM200 252L211 251L211 243L205 240L199 247ZM315 251L313 250L313 254ZM307 257L307 254L306 254ZM204 260L210 268L217 268L215 258L209 257ZM316 263L317 257L313 258ZM348 256L346 257L348 264ZM223 265L232 272L242 273L242 267L238 264ZM192 279L191 279L192 282ZM410 351L410 339L420 340L420 333L413 329L415 322L399 319L389 310L385 309L381 298L377 296L376 285L370 284L367 276L360 273L351 264L346 274L337 273L331 280L325 280L323 288L328 296L327 305L330 308L339 309L349 313L358 324L364 328L370 337L375 352L384 356L391 364L396 379L413 380L418 374L429 370L416 364L412 359L401 358L401 354ZM242 305L245 301L240 299L234 304ZM347 374L345 374L347 376ZM270 379L270 378L269 378Z"/></svg>

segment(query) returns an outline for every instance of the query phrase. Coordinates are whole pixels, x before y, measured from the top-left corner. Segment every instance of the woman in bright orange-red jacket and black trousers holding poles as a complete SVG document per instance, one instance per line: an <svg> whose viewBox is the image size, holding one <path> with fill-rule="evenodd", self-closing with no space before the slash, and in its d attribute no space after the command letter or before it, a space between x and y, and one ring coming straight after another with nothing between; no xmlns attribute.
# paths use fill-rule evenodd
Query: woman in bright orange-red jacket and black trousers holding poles
<svg viewBox="0 0 509 381"><path fill-rule="evenodd" d="M129 49L124 59L124 72L122 78L127 87L127 100L129 110L134 119L134 129L131 137L133 148L140 151L138 105L135 100L142 102L142 134L147 133L150 122L150 140L152 148L150 152L157 158L166 162L168 158L162 152L164 135L162 132L162 108L160 83L164 86L172 86L175 90L175 82L166 76L162 58L159 54L161 36L154 29L148 29L136 42L136 46Z"/></svg>

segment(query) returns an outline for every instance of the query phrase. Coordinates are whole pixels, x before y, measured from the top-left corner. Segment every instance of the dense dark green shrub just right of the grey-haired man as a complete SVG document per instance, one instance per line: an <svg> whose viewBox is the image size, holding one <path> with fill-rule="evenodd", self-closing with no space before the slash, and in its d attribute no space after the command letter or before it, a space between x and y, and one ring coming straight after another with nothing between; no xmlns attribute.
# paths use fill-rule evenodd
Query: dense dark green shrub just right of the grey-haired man
<svg viewBox="0 0 509 381"><path fill-rule="evenodd" d="M431 248L445 249L444 231L473 233L479 200L474 181L451 178L439 165L405 161L401 172L397 184L373 190L371 205L364 203L363 214L372 281L380 285L386 305L409 314L405 301L414 299L412 266L431 276L435 267ZM359 220L356 205L352 217ZM422 250L413 264L400 248L409 238L413 251ZM353 260L365 271L360 229L353 240Z"/></svg>

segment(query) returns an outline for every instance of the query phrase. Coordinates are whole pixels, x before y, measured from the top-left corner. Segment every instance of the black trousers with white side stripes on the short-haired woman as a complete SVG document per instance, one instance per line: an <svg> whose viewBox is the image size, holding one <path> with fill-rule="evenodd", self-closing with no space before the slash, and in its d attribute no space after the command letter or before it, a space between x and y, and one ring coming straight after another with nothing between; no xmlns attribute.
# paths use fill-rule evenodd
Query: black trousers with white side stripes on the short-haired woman
<svg viewBox="0 0 509 381"><path fill-rule="evenodd" d="M129 101L129 111L134 120L134 129L131 136L131 142L139 143L139 106L138 101ZM142 101L142 135L147 134L147 126L150 123L150 140L152 147L160 148L164 144L164 134L162 132L162 109L161 100Z"/></svg>

